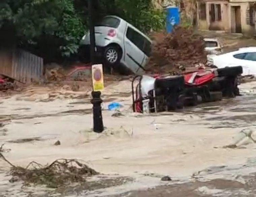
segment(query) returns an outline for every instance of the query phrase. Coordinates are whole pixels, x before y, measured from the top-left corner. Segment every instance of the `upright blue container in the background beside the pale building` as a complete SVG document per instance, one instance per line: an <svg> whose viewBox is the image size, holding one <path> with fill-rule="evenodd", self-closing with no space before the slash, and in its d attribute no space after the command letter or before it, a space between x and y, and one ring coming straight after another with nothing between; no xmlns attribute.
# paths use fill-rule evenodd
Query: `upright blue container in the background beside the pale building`
<svg viewBox="0 0 256 197"><path fill-rule="evenodd" d="M171 33L174 25L180 24L180 12L178 7L166 8L167 19L166 19L166 31Z"/></svg>

